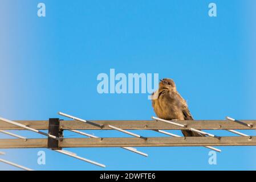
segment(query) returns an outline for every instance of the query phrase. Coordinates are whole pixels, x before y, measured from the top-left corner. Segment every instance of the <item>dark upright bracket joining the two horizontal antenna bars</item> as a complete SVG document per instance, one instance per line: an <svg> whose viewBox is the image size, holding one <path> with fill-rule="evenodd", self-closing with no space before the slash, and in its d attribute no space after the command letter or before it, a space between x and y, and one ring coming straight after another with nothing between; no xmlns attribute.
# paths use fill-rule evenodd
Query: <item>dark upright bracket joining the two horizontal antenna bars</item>
<svg viewBox="0 0 256 182"><path fill-rule="evenodd" d="M49 126L48 126L48 134L54 135L58 138L63 138L63 130L59 128L59 118L50 118ZM59 147L59 140L52 139L48 137L48 146L47 148L51 148L53 150L61 150Z"/></svg>

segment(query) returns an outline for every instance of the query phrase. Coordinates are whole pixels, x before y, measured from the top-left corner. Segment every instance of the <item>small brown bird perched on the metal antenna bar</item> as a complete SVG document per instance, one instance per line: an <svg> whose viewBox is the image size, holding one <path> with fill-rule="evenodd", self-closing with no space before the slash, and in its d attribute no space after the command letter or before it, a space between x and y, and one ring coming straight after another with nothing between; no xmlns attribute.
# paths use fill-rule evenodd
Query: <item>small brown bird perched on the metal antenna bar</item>
<svg viewBox="0 0 256 182"><path fill-rule="evenodd" d="M176 90L174 81L164 78L159 82L159 89L153 93L152 106L157 117L166 120L193 120L184 98ZM204 135L182 130L185 137L204 137Z"/></svg>

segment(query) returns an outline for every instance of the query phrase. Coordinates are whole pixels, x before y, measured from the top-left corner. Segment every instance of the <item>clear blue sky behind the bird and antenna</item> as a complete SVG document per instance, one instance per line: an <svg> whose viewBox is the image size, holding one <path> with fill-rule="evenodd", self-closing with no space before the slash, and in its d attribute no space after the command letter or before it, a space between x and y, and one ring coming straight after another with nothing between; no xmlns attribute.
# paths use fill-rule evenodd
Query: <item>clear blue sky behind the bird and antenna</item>
<svg viewBox="0 0 256 182"><path fill-rule="evenodd" d="M44 18L37 16L39 2L46 4ZM215 18L208 16L210 2L217 4ZM148 94L97 93L97 75L114 68L117 73L159 73L161 78L173 78L195 119L224 119L226 115L256 119L254 12L252 0L2 0L0 115L39 120L58 117L56 113L63 111L92 120L150 119L154 113ZM127 136L117 131L87 132ZM255 135L255 131L247 134ZM209 150L203 147L138 148L148 158L121 148L70 151L107 165L106 170L256 169L256 147L219 148L217 165L208 164ZM46 152L46 165L37 164L40 150ZM7 153L3 159L38 170L101 170L47 149L1 151ZM16 168L0 164L0 169Z"/></svg>

